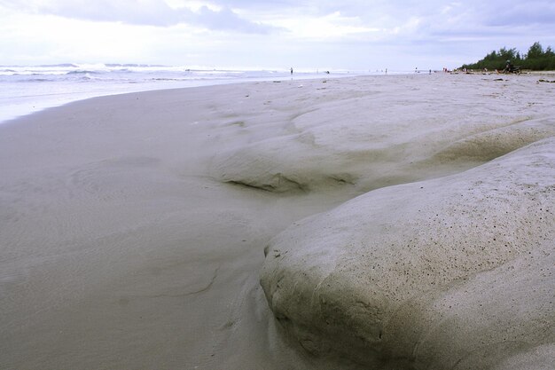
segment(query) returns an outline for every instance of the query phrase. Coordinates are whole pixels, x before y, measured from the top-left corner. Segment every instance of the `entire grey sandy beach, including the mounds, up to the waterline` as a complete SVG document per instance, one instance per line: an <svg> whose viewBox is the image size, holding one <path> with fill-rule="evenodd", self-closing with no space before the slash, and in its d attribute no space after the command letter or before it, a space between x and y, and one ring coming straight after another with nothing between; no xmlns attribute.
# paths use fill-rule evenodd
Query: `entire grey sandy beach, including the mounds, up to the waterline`
<svg viewBox="0 0 555 370"><path fill-rule="evenodd" d="M0 124L0 368L551 368L539 79L238 83Z"/></svg>

